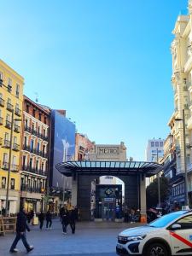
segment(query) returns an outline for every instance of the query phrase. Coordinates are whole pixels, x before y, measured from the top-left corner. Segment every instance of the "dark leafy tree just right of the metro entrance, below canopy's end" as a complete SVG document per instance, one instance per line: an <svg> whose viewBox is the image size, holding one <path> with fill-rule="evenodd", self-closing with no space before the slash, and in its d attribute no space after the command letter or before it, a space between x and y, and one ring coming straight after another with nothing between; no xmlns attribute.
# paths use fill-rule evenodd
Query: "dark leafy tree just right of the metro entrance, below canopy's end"
<svg viewBox="0 0 192 256"><path fill-rule="evenodd" d="M169 181L162 175L160 177L160 202L165 203L169 196ZM158 179L155 178L153 183L146 189L147 207L156 207L158 205Z"/></svg>

